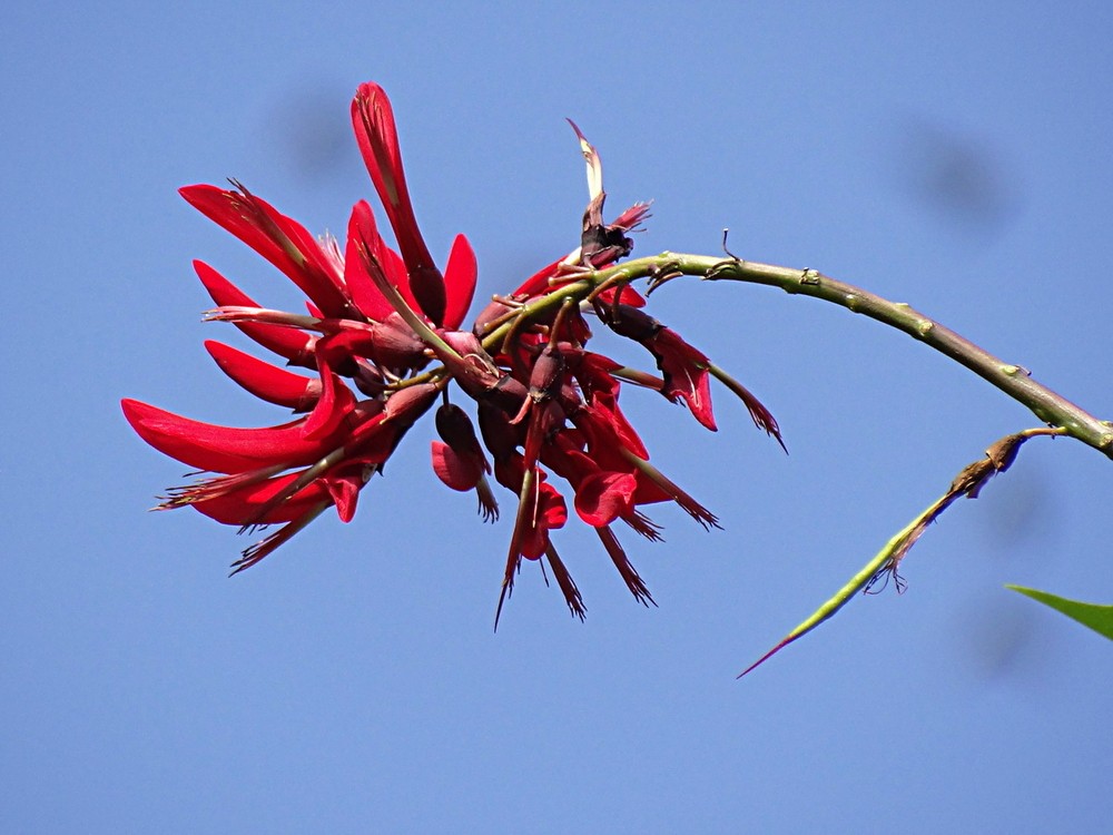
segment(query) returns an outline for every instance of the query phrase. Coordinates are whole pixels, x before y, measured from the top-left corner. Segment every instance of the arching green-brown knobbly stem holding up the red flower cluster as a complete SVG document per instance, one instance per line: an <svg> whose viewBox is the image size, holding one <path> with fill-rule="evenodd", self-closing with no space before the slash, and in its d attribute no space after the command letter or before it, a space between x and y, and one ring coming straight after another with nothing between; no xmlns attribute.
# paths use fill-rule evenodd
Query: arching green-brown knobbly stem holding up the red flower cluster
<svg viewBox="0 0 1113 835"><path fill-rule="evenodd" d="M780 287L786 293L810 296L860 313L883 324L904 331L945 356L965 365L997 386L1013 400L1027 406L1036 418L1093 446L1113 459L1113 422L1102 421L1082 407L1035 382L1021 365L998 360L969 340L913 310L907 304L889 302L874 293L837 281L815 269L795 269L740 258L719 258L664 252L634 258L608 269L585 273L549 295L523 305L514 322L523 323L552 312L565 298L583 301L604 282L653 278L661 274L698 276L706 281L732 281ZM498 348L512 327L504 323L483 337L487 350ZM521 326L520 324L518 326Z"/></svg>

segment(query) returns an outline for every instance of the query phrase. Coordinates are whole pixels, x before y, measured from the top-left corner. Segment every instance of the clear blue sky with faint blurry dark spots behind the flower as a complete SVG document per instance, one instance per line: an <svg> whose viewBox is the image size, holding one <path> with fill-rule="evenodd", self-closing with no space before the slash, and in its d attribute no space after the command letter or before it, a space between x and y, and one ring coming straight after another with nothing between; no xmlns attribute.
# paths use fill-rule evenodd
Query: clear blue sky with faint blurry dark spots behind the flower
<svg viewBox="0 0 1113 835"><path fill-rule="evenodd" d="M347 102L391 92L421 223L481 293L577 243L583 166L656 199L642 254L817 267L914 304L1113 415L1107 3L17 3L4 12L0 829L1099 832L1113 650L1003 589L1113 600L1110 462L1041 439L905 566L733 676L1025 410L906 336L751 286L653 312L775 411L720 432L639 392L654 461L723 519L558 546L581 625L526 570L491 631L510 522L440 485L418 426L351 525L246 544L146 513L183 466L135 396L284 418L210 363L214 264L287 282L176 195L237 177L314 230L372 194ZM765 7L765 8L762 8ZM602 344L602 343L601 343ZM612 343L613 344L613 343ZM637 396L642 394L642 396ZM509 498L508 498L509 501ZM535 568L526 566L526 569Z"/></svg>

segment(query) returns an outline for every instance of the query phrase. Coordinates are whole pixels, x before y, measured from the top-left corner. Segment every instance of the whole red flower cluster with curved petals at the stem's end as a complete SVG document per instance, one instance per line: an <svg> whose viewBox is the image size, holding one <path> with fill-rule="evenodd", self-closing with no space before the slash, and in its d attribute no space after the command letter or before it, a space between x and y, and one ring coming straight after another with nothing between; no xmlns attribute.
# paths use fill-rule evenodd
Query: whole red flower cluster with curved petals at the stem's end
<svg viewBox="0 0 1113 835"><path fill-rule="evenodd" d="M658 527L640 508L660 501L678 503L705 527L717 520L649 463L644 444L619 407L622 383L682 401L715 430L709 383L715 375L742 397L759 428L778 441L780 434L772 415L749 392L640 310L646 302L637 291L621 281L581 281L630 253L627 233L647 216L648 206L638 204L603 223L599 156L573 125L591 197L580 247L512 295L495 297L473 328L462 331L476 277L467 239L456 237L442 273L417 228L394 116L380 87L359 87L352 120L398 252L383 240L362 200L352 210L342 252L336 240L314 237L238 183L232 189L181 189L187 202L278 267L307 297L307 314L259 307L213 267L195 262L217 305L206 318L235 323L287 366L308 373L206 343L236 383L299 415L277 426L217 426L124 400L125 416L147 443L211 473L171 489L159 508L188 504L240 530L282 524L244 551L233 563L235 573L328 507L343 521L351 520L359 491L440 401L440 440L433 441L432 459L441 481L454 490L475 490L487 520L499 514L489 475L518 497L500 611L521 560L544 557L569 608L583 617L580 592L550 536L568 520L564 495L550 474L569 484L575 513L594 528L634 597L652 602L612 524L622 521L659 539ZM589 351L587 314L641 343L661 376ZM450 402L453 382L474 401L479 436L467 413Z"/></svg>

